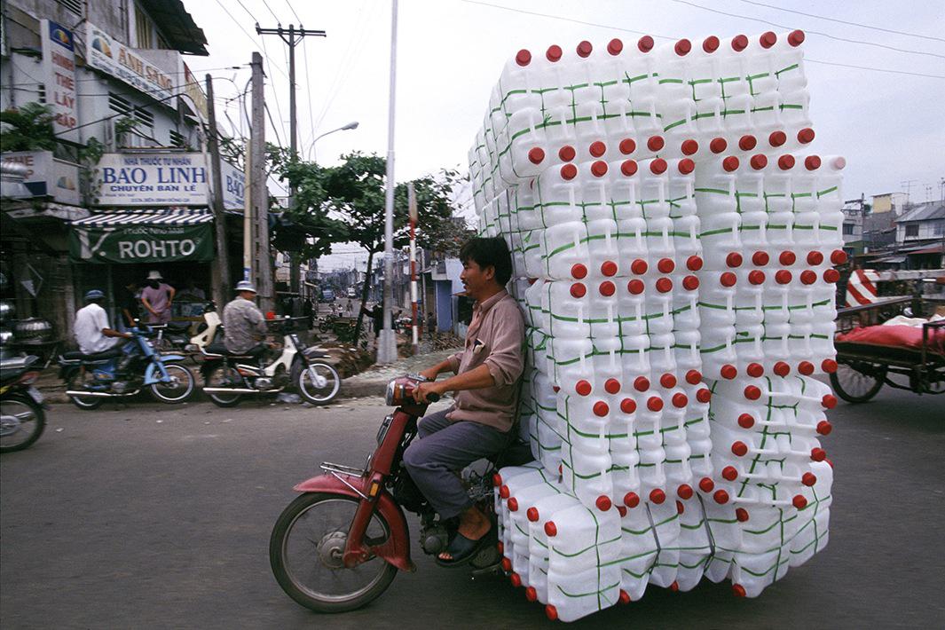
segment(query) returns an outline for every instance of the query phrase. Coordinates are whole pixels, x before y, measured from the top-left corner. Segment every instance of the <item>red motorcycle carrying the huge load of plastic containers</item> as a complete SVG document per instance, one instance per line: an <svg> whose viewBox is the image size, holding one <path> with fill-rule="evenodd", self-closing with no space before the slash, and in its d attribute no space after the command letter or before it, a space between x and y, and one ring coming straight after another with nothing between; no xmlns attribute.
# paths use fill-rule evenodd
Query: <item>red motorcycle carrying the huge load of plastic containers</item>
<svg viewBox="0 0 945 630"><path fill-rule="evenodd" d="M296 485L302 495L283 510L269 538L269 563L285 593L318 612L345 612L379 597L399 570L416 570L404 509L421 517L423 553L447 548L456 523L439 519L402 463L427 405L413 400L421 376L387 383L387 404L396 406L377 432L377 450L364 468L324 463L325 474ZM431 402L435 395L427 395ZM531 461L527 444L515 442L476 471L462 471L470 498L492 519L490 541L472 556L473 574L499 570L495 544L492 473Z"/></svg>

